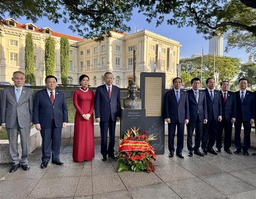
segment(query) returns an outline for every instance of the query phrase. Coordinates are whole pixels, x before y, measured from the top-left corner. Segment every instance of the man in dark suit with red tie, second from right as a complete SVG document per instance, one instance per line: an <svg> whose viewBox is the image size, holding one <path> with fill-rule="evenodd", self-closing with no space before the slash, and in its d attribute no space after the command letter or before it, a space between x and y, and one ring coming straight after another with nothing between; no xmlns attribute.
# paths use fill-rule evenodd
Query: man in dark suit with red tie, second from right
<svg viewBox="0 0 256 199"><path fill-rule="evenodd" d="M236 96L233 92L228 91L229 82L223 80L221 82L221 106L222 120L218 122L218 134L216 136L216 151L221 152L222 133L224 129L224 151L232 154L230 151L233 123L236 121Z"/></svg>

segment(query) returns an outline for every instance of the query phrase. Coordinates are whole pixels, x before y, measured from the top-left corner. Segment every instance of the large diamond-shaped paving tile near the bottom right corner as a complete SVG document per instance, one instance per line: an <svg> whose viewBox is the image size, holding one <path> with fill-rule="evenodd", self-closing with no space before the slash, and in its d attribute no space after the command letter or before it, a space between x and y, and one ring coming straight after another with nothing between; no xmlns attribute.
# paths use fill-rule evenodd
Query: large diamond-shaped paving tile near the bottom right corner
<svg viewBox="0 0 256 199"><path fill-rule="evenodd" d="M214 174L212 176L201 176L200 179L226 196L255 189L255 187L251 186L250 184L241 181L228 173Z"/></svg>

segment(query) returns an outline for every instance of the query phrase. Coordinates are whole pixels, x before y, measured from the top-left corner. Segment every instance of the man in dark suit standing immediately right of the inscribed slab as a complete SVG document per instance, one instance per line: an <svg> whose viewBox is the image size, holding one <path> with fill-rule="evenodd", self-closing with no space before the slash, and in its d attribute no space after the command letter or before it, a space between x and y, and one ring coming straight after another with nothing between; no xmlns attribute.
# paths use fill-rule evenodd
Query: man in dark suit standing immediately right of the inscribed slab
<svg viewBox="0 0 256 199"><path fill-rule="evenodd" d="M177 126L176 155L184 158L182 149L184 144L184 123L189 121L189 103L187 93L181 90L182 80L176 77L172 80L174 89L166 92L164 98L164 117L168 123L168 148L169 158L174 154L174 136Z"/></svg>

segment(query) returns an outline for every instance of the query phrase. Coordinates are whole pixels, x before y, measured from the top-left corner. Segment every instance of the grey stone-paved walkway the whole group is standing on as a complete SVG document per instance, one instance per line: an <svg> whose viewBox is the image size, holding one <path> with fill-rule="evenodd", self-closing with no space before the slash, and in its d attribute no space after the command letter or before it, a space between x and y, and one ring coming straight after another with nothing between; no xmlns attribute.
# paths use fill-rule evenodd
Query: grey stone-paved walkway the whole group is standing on
<svg viewBox="0 0 256 199"><path fill-rule="evenodd" d="M95 158L91 162L72 161L72 139L62 139L63 166L48 164L40 169L41 149L29 156L30 170L9 173L0 166L0 198L84 198L84 199L165 199L165 198L256 198L256 157L251 153L205 157L157 155L155 173L117 173L117 161L101 161L99 139L95 138ZM184 140L186 146L186 140ZM118 149L118 143L115 150ZM231 146L234 150L234 144Z"/></svg>

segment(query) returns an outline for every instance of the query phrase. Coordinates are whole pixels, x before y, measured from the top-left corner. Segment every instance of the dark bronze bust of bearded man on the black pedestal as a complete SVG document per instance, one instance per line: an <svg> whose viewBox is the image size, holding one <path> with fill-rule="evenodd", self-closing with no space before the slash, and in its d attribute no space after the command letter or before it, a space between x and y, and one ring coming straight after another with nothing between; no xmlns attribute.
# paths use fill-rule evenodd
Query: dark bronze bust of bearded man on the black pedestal
<svg viewBox="0 0 256 199"><path fill-rule="evenodd" d="M137 84L130 82L127 90L129 92L128 97L124 98L124 108L141 109L141 99L137 98Z"/></svg>

